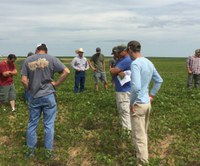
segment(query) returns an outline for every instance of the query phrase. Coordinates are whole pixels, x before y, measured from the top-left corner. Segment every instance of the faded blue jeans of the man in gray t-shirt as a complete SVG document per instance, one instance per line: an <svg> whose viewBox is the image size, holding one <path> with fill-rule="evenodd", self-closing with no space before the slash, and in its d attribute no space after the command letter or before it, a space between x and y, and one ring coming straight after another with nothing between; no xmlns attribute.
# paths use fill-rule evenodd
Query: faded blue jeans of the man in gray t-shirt
<svg viewBox="0 0 200 166"><path fill-rule="evenodd" d="M27 146L31 149L37 144L37 127L40 116L43 113L44 120L44 147L52 150L54 139L54 121L57 112L57 104L54 94L30 99L29 122L26 133Z"/></svg>

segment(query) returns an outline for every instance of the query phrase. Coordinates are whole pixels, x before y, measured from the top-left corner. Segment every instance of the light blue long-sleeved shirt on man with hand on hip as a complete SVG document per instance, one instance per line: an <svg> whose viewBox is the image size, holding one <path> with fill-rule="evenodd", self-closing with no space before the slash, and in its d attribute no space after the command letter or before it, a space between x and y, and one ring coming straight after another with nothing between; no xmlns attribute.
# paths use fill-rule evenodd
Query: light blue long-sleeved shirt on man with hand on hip
<svg viewBox="0 0 200 166"><path fill-rule="evenodd" d="M131 63L131 98L130 104L150 102L149 84L153 80L154 84L150 95L155 96L161 87L163 79L157 72L153 63L145 57L136 58Z"/></svg>

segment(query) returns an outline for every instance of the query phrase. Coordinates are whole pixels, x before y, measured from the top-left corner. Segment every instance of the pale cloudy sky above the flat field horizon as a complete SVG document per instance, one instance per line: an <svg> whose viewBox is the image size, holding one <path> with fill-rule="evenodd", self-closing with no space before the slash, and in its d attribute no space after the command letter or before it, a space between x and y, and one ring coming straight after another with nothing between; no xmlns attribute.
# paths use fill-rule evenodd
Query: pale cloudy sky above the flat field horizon
<svg viewBox="0 0 200 166"><path fill-rule="evenodd" d="M1 0L0 55L86 56L138 40L143 56L187 57L200 48L199 0Z"/></svg>

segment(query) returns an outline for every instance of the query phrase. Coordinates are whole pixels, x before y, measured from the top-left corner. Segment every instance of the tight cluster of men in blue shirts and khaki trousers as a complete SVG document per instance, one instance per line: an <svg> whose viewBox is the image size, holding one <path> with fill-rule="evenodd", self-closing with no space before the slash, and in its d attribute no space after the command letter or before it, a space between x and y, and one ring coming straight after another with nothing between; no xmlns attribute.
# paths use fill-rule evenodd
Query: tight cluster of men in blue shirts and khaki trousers
<svg viewBox="0 0 200 166"><path fill-rule="evenodd" d="M132 134L137 165L148 164L147 129L151 101L160 89L163 79L152 62L142 57L141 44L138 41L130 41L127 46L116 46L112 53L116 63L110 68L110 73L115 84L122 127ZM149 92L151 80L154 84Z"/></svg>

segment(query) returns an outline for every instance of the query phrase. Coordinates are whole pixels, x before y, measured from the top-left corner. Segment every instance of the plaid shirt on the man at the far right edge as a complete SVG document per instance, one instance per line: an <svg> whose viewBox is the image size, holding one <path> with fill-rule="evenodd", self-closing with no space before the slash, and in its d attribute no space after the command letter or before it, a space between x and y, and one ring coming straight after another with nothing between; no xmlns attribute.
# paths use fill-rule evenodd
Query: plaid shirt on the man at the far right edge
<svg viewBox="0 0 200 166"><path fill-rule="evenodd" d="M200 74L200 57L192 55L187 59L187 67L193 74Z"/></svg>

